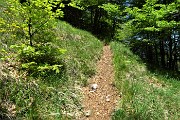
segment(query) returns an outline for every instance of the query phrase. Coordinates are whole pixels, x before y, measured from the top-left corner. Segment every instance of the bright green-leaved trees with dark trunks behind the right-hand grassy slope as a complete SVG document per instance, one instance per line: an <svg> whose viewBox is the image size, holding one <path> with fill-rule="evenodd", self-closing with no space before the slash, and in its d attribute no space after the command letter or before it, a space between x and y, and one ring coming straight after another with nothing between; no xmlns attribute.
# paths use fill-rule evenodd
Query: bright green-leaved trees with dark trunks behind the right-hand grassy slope
<svg viewBox="0 0 180 120"><path fill-rule="evenodd" d="M119 25L116 39L128 43L151 66L178 71L179 5L176 0L146 0L142 7L126 7L126 21Z"/></svg>

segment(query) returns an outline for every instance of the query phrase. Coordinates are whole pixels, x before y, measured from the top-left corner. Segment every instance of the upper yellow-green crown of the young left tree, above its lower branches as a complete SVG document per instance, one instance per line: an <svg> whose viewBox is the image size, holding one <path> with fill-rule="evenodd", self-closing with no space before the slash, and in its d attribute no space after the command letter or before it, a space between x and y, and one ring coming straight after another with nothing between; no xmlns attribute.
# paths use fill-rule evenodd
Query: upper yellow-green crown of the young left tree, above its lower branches
<svg viewBox="0 0 180 120"><path fill-rule="evenodd" d="M33 42L49 42L53 36L50 29L56 26L55 18L63 16L61 9L53 11L53 7L58 6L61 1L31 0L21 4L19 1L9 0L8 3L8 11L15 18L15 21L9 23L10 26L19 28L23 38L29 41L31 46ZM48 36L48 39L44 35Z"/></svg>

